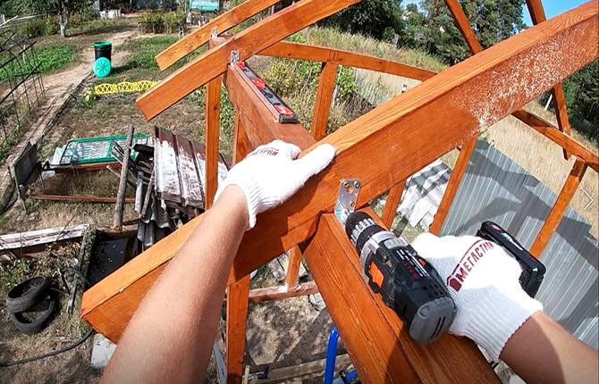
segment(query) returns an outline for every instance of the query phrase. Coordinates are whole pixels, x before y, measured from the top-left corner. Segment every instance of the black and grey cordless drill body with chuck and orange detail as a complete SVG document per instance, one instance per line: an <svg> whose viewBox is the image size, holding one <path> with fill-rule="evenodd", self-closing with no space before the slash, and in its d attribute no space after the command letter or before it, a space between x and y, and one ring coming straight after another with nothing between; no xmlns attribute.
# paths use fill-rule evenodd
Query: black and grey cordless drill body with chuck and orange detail
<svg viewBox="0 0 599 384"><path fill-rule="evenodd" d="M450 329L456 306L443 280L412 246L363 212L350 213L345 233L356 246L364 279L398 314L419 344Z"/></svg>

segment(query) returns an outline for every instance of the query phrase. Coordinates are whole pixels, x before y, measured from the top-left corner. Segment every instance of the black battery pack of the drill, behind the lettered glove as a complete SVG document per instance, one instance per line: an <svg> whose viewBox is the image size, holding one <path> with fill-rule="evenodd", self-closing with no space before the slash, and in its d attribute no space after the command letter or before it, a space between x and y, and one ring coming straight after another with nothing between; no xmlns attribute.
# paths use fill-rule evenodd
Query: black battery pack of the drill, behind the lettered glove
<svg viewBox="0 0 599 384"><path fill-rule="evenodd" d="M544 264L535 256L530 255L527 249L520 245L518 240L493 221L483 222L480 230L477 232L477 236L502 246L509 255L518 261L520 267L522 267L520 285L527 292L528 296L535 297L543 282L546 271Z"/></svg>

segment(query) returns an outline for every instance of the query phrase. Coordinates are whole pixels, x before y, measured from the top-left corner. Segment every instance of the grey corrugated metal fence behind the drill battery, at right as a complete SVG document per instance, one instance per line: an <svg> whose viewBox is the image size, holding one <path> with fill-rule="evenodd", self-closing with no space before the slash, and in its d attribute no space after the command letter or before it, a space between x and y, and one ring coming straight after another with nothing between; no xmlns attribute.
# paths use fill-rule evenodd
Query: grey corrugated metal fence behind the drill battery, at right
<svg viewBox="0 0 599 384"><path fill-rule="evenodd" d="M509 157L479 140L443 225L442 235L474 235L497 222L532 246L557 196ZM569 208L541 260L547 273L538 298L545 312L589 346L599 346L599 244L591 226Z"/></svg>

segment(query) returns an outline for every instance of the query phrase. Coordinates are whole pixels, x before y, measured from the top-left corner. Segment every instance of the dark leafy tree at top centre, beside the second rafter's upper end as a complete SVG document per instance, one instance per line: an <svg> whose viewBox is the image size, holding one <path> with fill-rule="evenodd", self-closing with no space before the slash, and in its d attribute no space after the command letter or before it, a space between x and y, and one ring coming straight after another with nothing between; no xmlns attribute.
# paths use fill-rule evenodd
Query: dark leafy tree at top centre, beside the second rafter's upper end
<svg viewBox="0 0 599 384"><path fill-rule="evenodd" d="M398 33L403 29L401 0L363 0L333 14L321 24L380 39L385 29L392 28Z"/></svg>

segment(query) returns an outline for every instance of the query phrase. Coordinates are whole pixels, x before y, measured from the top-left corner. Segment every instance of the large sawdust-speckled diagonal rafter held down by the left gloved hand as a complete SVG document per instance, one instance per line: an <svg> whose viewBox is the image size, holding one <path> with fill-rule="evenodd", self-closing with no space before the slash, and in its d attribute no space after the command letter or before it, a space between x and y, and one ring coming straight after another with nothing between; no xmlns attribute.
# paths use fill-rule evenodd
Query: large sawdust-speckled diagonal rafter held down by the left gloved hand
<svg viewBox="0 0 599 384"><path fill-rule="evenodd" d="M333 212L340 179L361 179L358 205L367 204L441 154L476 137L481 127L513 113L551 88L554 81L595 59L593 44L599 38L596 5L597 1L583 4L492 46L321 140L336 148L333 163L308 179L289 201L258 215L256 227L241 242L229 282L240 280L312 236L318 214ZM548 60L547 54L556 52L568 60ZM546 73L554 77L550 79ZM232 79L227 76L228 86ZM510 92L491 92L504 88L506 81L511 84ZM240 100L242 95L238 92L236 97ZM260 121L259 113L244 111L241 116L255 119L251 129L271 138L277 134L277 127ZM244 128L250 130L245 123ZM289 124L278 128L289 129ZM305 130L300 137L299 129L297 138L291 138L294 143L306 147L310 140L314 142ZM199 216L190 221L90 288L83 296L82 317L117 341L165 263L177 254L201 220Z"/></svg>

